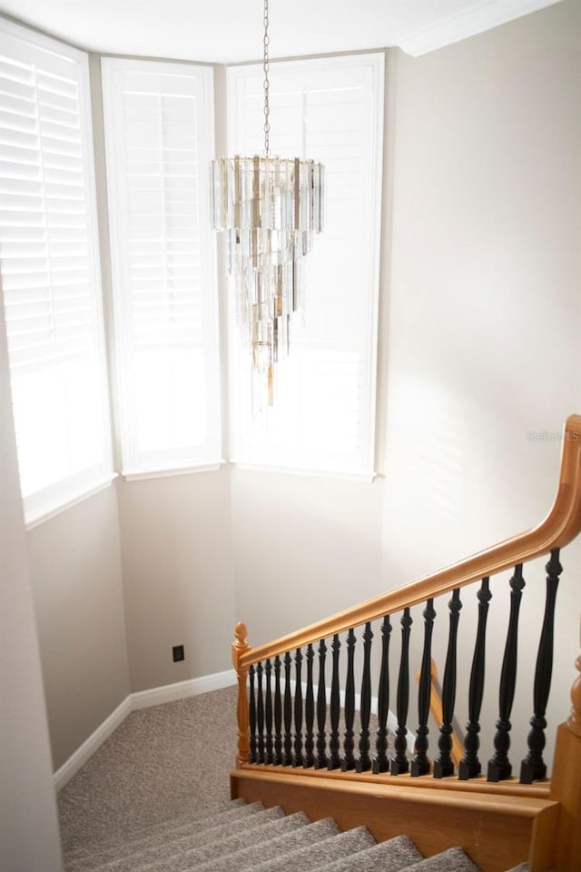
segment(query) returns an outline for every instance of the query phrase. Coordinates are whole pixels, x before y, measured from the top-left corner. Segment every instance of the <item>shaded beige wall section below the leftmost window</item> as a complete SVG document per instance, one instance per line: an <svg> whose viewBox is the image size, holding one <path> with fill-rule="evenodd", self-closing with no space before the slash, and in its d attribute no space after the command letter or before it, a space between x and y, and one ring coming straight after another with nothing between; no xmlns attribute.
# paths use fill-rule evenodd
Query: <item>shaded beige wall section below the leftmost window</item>
<svg viewBox="0 0 581 872"><path fill-rule="evenodd" d="M129 694L117 494L28 531L54 768Z"/></svg>

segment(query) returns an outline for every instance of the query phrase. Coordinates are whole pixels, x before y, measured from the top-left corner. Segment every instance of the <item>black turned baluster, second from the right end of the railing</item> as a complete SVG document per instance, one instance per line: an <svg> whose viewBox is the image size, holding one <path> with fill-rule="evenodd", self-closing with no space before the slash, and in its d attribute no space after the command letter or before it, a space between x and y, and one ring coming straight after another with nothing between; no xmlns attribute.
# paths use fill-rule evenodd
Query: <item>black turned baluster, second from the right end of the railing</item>
<svg viewBox="0 0 581 872"><path fill-rule="evenodd" d="M488 760L488 781L502 781L510 778L512 766L508 759L510 748L510 713L515 699L517 683L517 640L518 640L518 610L522 591L525 587L523 565L515 567L515 573L510 580L510 616L508 618L507 643L502 659L500 673L500 693L498 694L497 734L494 738L495 754Z"/></svg>

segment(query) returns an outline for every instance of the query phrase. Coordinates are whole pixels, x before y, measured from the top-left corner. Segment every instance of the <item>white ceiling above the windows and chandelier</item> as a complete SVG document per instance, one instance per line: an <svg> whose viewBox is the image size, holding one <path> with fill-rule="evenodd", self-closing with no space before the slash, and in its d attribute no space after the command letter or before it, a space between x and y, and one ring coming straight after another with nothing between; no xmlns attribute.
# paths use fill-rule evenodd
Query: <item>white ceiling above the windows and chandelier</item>
<svg viewBox="0 0 581 872"><path fill-rule="evenodd" d="M399 45L425 54L559 0L270 0L271 57ZM100 54L260 60L263 0L0 0L0 12Z"/></svg>

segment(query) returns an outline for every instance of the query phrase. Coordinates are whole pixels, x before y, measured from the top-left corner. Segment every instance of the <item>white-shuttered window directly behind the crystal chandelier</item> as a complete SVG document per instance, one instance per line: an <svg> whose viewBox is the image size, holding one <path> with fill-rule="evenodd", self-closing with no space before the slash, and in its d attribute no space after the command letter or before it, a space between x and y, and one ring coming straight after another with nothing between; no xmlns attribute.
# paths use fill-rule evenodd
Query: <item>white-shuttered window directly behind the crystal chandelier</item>
<svg viewBox="0 0 581 872"><path fill-rule="evenodd" d="M271 64L271 154L325 164L326 221L266 425L234 349L235 461L373 474L383 70L382 54ZM262 94L259 66L229 71L231 154L262 153Z"/></svg>

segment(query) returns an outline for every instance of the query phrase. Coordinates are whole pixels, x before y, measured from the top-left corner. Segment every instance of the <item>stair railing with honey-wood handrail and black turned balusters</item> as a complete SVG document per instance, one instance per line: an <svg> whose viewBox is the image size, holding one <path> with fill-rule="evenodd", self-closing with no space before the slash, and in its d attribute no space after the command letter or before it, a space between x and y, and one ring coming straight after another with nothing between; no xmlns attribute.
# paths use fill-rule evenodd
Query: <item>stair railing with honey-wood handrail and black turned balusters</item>
<svg viewBox="0 0 581 872"><path fill-rule="evenodd" d="M559 555L580 531L581 416L573 415L567 419L563 432L556 499L547 518L534 529L480 551L467 560L461 560L432 575L396 590L390 590L375 599L369 599L351 609L346 609L257 648L252 649L248 644L246 627L243 623L239 623L235 630L232 648L239 687L238 767L280 765L292 768L363 772L369 775L409 774L411 778L430 775L437 779L449 779L456 774L458 768L459 781L469 781L474 778L481 781L483 762L478 756L480 745L478 734L486 667L487 613L492 598L490 580L502 570L511 570L510 606L504 640L504 657L499 676L494 750L485 765L487 782L497 783L511 779L513 767L508 758L510 716L516 689L518 622L526 583L526 565L531 560L547 555L545 614L537 648L533 715L527 738L527 754L520 766L520 781L531 784L533 781L546 778L547 766L543 758L543 749L546 742L545 715L553 664L556 591L562 573ZM464 589L475 583L478 584L476 593L478 627L472 652L469 686L465 694L468 698L468 723L463 756L459 766L456 767L452 758L452 724L457 695L458 622ZM448 647L442 680L442 714L441 718L438 718L440 720L438 757L432 763L428 758L428 717L431 698L432 634L436 618L434 603L443 595L450 597ZM419 604L424 604L418 690L419 723L415 730L413 755L410 756L407 720L410 692L409 645L413 623L411 609ZM393 630L392 617L395 615L400 615L401 636L395 692L398 723L393 747L389 749L389 642ZM376 729L375 748L372 751L369 722L372 699L373 621L381 621L381 665L377 696L379 726ZM355 629L362 625L364 626L363 666L360 685L356 688ZM305 661L306 680L303 682ZM340 691L340 664L345 673L343 692ZM327 687L326 679L329 669L330 688ZM317 682L313 678L315 675L318 677ZM566 731L570 741L578 742L581 738L578 684L579 679L574 692L574 714L558 734L561 742L564 741L563 730ZM354 712L358 688L360 688L360 730L356 748ZM578 744L576 747L579 747ZM577 758L578 756L577 751ZM568 793L570 806L578 815L581 811L581 797L578 795L577 786L581 780L581 771L578 772L576 782L573 783L570 776L565 777L565 768L559 760L561 757L557 748L553 782L555 783L556 779L556 789ZM562 797L559 799L561 801Z"/></svg>

